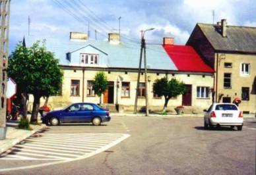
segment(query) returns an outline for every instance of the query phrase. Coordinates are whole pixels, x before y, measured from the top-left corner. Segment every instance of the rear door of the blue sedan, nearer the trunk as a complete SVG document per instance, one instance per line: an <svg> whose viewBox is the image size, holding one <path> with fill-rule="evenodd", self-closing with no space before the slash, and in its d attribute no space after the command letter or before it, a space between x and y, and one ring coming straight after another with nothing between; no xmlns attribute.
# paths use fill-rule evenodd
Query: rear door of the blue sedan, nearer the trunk
<svg viewBox="0 0 256 175"><path fill-rule="evenodd" d="M79 111L80 122L92 122L94 116L94 107L90 104L81 104Z"/></svg>

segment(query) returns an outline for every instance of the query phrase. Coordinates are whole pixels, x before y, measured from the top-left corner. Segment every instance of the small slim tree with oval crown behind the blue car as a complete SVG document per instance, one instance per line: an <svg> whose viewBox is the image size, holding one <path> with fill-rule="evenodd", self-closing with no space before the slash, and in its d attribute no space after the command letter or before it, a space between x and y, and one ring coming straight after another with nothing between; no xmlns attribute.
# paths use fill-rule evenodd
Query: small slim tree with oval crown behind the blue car
<svg viewBox="0 0 256 175"><path fill-rule="evenodd" d="M108 79L104 72L98 72L92 82L94 92L100 97L100 104L102 104L102 93L108 89Z"/></svg>

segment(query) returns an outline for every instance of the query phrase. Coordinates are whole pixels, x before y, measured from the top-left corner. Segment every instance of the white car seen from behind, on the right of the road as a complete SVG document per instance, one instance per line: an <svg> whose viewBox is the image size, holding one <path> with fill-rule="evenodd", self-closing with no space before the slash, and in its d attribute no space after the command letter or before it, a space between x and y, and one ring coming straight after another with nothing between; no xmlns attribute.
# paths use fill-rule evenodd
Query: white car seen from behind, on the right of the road
<svg viewBox="0 0 256 175"><path fill-rule="evenodd" d="M212 126L236 126L239 131L243 128L243 115L233 103L213 103L208 110L204 110L205 129Z"/></svg>

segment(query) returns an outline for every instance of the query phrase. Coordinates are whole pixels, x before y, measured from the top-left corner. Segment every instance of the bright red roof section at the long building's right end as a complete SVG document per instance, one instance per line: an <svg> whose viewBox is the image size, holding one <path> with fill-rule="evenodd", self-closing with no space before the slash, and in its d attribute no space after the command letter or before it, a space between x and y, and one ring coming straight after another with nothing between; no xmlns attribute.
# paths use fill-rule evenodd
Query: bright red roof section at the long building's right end
<svg viewBox="0 0 256 175"><path fill-rule="evenodd" d="M214 70L203 62L201 57L188 45L163 45L166 53L177 69L185 72L210 72Z"/></svg>

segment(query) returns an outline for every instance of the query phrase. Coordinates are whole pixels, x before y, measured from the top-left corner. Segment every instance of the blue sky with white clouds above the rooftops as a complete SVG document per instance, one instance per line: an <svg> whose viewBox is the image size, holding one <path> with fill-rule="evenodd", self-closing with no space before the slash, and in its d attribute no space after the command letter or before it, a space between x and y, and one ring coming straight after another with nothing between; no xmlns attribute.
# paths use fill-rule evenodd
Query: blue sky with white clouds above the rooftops
<svg viewBox="0 0 256 175"><path fill-rule="evenodd" d="M139 43L140 31L154 28L146 32L146 43L174 37L185 45L197 22L213 23L213 10L214 23L226 18L228 25L256 27L255 0L12 0L10 51L28 36L28 16L30 36L40 38L61 41L69 32L88 33L90 23L89 38L106 39L118 32L120 21L123 42Z"/></svg>

